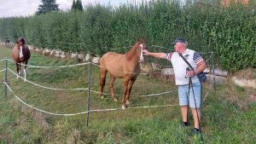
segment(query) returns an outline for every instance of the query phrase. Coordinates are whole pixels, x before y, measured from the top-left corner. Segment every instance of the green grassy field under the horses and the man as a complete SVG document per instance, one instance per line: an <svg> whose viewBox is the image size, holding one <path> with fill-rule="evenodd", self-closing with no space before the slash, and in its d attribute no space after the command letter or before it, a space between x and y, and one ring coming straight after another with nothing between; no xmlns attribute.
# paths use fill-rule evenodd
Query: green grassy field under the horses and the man
<svg viewBox="0 0 256 144"><path fill-rule="evenodd" d="M0 60L9 57L11 49L0 47ZM29 65L66 66L77 60L61 60L32 53ZM8 61L9 69L15 65ZM0 62L0 71L4 69ZM98 90L99 69L91 66L91 90ZM4 72L0 72L1 82ZM27 79L49 88L87 88L89 66L67 68L29 67ZM44 89L16 79L8 72L8 84L20 100L38 109L53 113L77 113L87 109L88 91ZM3 83L1 83L3 85ZM216 92L204 84L202 135L204 143L256 143L256 104L250 101L255 89L244 89L227 82L218 85ZM115 94L122 93L122 80L114 84ZM105 93L110 93L107 84ZM165 95L143 96L173 91ZM89 126L86 114L55 116L26 107L4 86L0 89L0 143L199 143L198 135L191 135L189 128L179 124L181 115L177 106L177 87L153 76L140 75L131 92L131 105L121 110L121 96L113 102L110 95L100 99L90 92L90 110L117 109L90 112ZM170 107L152 107L173 105ZM146 107L148 108L131 108ZM191 114L189 119L191 119ZM190 120L190 125L193 121Z"/></svg>

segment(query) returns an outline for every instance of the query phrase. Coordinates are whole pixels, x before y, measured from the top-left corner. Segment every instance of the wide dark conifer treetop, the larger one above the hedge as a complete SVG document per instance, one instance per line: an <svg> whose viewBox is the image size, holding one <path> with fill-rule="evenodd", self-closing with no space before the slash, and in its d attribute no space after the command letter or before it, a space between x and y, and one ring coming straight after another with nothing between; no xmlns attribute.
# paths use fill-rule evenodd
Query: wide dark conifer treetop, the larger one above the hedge
<svg viewBox="0 0 256 144"><path fill-rule="evenodd" d="M45 14L47 12L53 12L60 10L59 4L56 4L55 0L41 0L43 4L38 6L38 11L36 14Z"/></svg>

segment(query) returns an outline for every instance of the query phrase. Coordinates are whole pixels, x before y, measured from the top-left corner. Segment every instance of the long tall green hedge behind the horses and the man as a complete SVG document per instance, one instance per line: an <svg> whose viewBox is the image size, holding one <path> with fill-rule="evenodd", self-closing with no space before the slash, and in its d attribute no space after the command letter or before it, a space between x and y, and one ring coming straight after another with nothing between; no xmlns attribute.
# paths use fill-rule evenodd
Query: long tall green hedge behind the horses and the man
<svg viewBox="0 0 256 144"><path fill-rule="evenodd" d="M67 52L123 53L146 38L154 52L173 49L175 37L186 37L189 48L214 51L218 65L231 71L256 66L256 12L248 5L218 1L156 0L141 5L86 6L67 11L0 19L0 40L25 37L39 48ZM213 3L214 2L214 3Z"/></svg>

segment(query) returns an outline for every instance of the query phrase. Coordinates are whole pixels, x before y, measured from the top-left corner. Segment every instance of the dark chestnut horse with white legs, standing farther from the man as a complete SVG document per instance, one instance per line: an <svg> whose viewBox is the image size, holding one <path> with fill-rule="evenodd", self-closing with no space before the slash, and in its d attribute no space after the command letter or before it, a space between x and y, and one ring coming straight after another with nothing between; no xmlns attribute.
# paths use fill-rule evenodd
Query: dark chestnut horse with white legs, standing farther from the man
<svg viewBox="0 0 256 144"><path fill-rule="evenodd" d="M25 65L27 65L27 61L30 58L30 51L29 51L28 47L26 46L24 38L20 37L16 41L15 47L12 51L12 58L16 62L17 75L20 76L21 75L20 63L24 63ZM25 68L24 68L24 81L26 81L26 67L27 66L25 66ZM19 76L17 76L17 78L19 78Z"/></svg>

